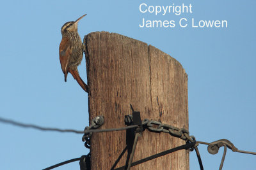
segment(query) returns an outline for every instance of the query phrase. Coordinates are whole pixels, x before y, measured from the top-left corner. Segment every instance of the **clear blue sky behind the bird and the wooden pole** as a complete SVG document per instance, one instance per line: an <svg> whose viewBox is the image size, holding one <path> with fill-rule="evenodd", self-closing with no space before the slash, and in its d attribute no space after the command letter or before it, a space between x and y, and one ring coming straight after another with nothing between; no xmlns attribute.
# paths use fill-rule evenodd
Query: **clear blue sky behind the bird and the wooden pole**
<svg viewBox="0 0 256 170"><path fill-rule="evenodd" d="M140 13L148 5L192 4L193 13ZM88 96L68 75L58 48L61 26L79 22L79 34L109 31L156 46L188 73L189 132L198 141L226 138L256 152L255 5L246 1L3 1L0 41L0 117L29 124L83 130ZM147 20L227 20L227 28L140 28ZM86 80L85 60L79 73ZM43 169L88 153L79 134L41 132L0 124L0 169ZM205 169L218 169L223 148L199 146ZM256 157L228 150L223 169L255 169ZM199 169L195 153L190 169ZM58 169L79 169L78 162Z"/></svg>

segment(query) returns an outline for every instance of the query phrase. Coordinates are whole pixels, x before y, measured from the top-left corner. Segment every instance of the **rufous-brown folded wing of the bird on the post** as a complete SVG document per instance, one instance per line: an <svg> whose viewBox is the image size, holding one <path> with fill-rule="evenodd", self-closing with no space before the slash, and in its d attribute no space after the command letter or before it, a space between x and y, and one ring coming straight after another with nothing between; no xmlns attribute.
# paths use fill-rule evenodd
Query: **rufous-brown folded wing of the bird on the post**
<svg viewBox="0 0 256 170"><path fill-rule="evenodd" d="M63 37L60 42L59 54L60 54L60 64L63 73L65 74L65 81L67 81L68 74L68 62L71 56L71 43L68 38Z"/></svg>

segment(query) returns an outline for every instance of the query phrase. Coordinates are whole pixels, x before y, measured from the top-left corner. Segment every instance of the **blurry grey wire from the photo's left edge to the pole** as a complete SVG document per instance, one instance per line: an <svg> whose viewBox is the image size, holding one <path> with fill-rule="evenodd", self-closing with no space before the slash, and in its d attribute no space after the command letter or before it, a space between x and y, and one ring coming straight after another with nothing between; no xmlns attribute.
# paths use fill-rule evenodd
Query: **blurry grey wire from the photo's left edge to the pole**
<svg viewBox="0 0 256 170"><path fill-rule="evenodd" d="M84 131L76 131L73 129L58 129L58 128L52 128L52 127L40 127L38 125L23 124L20 122L8 120L8 119L1 118L1 117L0 117L0 122L2 122L4 124L12 124L12 125L19 126L19 127L33 128L33 129L37 129L40 131L73 132L76 134L84 134Z"/></svg>

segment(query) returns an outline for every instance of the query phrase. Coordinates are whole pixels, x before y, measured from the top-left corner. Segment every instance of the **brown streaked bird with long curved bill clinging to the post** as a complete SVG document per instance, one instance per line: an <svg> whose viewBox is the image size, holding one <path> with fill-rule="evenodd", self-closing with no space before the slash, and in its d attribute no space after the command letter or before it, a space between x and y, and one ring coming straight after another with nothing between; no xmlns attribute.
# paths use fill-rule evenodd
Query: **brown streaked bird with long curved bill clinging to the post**
<svg viewBox="0 0 256 170"><path fill-rule="evenodd" d="M79 17L76 21L66 22L61 27L62 39L59 54L65 82L67 82L67 75L70 73L82 89L88 92L88 86L84 83L77 70L77 66L81 64L83 59L84 51L82 40L77 32L77 24L85 15Z"/></svg>

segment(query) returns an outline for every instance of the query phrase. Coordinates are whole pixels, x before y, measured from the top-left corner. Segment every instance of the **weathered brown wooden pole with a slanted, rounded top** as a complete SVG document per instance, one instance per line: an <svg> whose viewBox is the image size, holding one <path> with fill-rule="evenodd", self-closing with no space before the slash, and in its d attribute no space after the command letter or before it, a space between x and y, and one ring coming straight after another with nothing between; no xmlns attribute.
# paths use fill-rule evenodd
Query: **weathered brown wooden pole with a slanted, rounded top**
<svg viewBox="0 0 256 170"><path fill-rule="evenodd" d="M141 119L188 129L188 76L180 63L151 45L120 34L92 32L86 37L90 122L103 115L100 129L125 127L130 104ZM94 133L92 170L111 169L129 141L126 131ZM147 129L133 161L184 145L185 141ZM125 166L127 151L115 168ZM189 169L188 150L179 150L131 169Z"/></svg>

